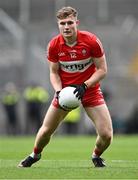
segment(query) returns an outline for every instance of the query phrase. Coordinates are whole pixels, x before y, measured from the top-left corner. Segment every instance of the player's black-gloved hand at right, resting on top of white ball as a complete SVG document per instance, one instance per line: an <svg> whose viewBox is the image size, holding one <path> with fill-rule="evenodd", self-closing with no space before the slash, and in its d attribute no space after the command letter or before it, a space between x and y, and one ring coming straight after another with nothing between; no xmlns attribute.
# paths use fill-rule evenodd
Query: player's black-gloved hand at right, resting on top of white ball
<svg viewBox="0 0 138 180"><path fill-rule="evenodd" d="M86 89L87 89L87 85L85 83L81 84L81 85L71 85L73 87L75 87L76 89L74 90L74 94L76 95L76 97L78 99L82 99Z"/></svg>

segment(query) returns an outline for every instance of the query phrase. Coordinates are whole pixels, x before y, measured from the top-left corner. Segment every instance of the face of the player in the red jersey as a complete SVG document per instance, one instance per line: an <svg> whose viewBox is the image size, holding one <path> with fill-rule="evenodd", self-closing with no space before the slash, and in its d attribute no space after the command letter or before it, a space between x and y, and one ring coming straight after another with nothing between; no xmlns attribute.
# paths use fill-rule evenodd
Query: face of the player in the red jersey
<svg viewBox="0 0 138 180"><path fill-rule="evenodd" d="M59 31L65 40L76 37L78 23L73 16L58 20Z"/></svg>

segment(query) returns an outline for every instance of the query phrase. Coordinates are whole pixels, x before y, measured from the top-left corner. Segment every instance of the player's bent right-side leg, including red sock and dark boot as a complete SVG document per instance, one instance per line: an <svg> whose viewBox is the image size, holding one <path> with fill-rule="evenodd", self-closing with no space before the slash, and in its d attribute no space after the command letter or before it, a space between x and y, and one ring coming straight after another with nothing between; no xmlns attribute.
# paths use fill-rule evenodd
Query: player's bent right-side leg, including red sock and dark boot
<svg viewBox="0 0 138 180"><path fill-rule="evenodd" d="M94 122L97 131L96 144L92 154L93 163L96 167L103 167L105 164L100 156L108 148L113 137L110 113L106 104L86 107L85 110Z"/></svg>

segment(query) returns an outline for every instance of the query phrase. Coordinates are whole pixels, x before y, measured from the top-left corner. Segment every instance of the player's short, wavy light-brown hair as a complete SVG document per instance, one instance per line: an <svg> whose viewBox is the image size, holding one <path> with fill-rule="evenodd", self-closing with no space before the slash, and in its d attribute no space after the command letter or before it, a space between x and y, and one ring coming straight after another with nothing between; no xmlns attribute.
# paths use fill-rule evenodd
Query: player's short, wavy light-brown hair
<svg viewBox="0 0 138 180"><path fill-rule="evenodd" d="M70 6L67 6L67 7L61 8L57 12L56 17L57 17L57 19L65 19L65 18L67 18L67 17L69 17L71 15L77 18L78 12L77 12L76 9L74 9L74 8L72 8Z"/></svg>

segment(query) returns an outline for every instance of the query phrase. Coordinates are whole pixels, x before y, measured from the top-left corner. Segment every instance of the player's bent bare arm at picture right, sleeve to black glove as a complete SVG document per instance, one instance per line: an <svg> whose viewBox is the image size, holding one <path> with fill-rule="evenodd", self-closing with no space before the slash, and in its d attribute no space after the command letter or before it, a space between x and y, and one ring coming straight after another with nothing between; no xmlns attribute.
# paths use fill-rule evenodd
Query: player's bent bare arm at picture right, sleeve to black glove
<svg viewBox="0 0 138 180"><path fill-rule="evenodd" d="M97 70L88 80L85 81L85 84L88 88L94 86L107 74L107 63L105 55L100 58L94 58L93 61Z"/></svg>

